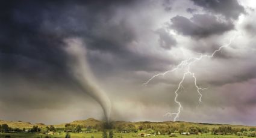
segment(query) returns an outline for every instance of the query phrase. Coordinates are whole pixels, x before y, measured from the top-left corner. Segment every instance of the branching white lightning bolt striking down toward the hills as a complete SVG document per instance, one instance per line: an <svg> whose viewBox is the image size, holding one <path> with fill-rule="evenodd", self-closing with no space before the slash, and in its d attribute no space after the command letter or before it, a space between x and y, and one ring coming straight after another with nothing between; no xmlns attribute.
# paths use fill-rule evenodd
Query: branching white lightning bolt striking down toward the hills
<svg viewBox="0 0 256 138"><path fill-rule="evenodd" d="M207 89L207 88L201 88L198 86L197 84L197 80L196 80L196 75L195 73L193 73L192 71L190 71L190 65L194 64L195 62L197 61L200 61L202 58L212 58L217 52L221 52L221 50L225 47L228 47L231 45L231 43L233 42L233 40L237 37L234 36L233 38L229 38L229 43L228 44L224 44L223 46L220 46L219 49L216 49L214 50L213 53L211 53L211 55L203 55L202 53L199 53L199 58L195 58L195 57L192 57L192 58L188 58L184 61L181 61L180 64L178 64L175 68L173 68L172 70L167 70L165 71L164 73L158 73L158 74L155 74L154 76L152 76L150 79L148 79L145 83L143 83L143 85L148 85L149 82L151 82L151 80L153 80L155 77L158 77L158 76L164 76L165 74L167 73L172 73L173 71L176 71L180 68L186 68L186 71L184 71L183 73L183 78L181 79L181 81L178 83L178 88L176 88L175 90L175 98L174 98L174 101L176 104L178 104L178 110L176 112L168 112L166 113L164 116L174 116L173 118L173 121L176 121L179 116L180 116L180 113L181 113L181 110L183 109L183 106L181 105L181 102L177 100L178 98L178 91L180 90L180 88L183 88L183 82L184 82L184 79L186 79L186 76L187 75L190 75L193 77L194 79L194 85L195 85L195 88L197 89L197 92L198 92L198 95L199 95L199 103L202 102L202 94L201 94L201 91Z"/></svg>

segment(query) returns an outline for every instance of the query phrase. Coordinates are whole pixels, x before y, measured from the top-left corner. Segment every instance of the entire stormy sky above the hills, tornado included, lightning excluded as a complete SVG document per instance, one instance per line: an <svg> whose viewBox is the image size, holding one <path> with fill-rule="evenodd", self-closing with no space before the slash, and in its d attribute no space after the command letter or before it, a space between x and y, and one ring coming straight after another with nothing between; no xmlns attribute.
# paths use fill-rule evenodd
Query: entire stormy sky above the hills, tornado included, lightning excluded
<svg viewBox="0 0 256 138"><path fill-rule="evenodd" d="M2 1L0 119L256 125L256 2Z"/></svg>

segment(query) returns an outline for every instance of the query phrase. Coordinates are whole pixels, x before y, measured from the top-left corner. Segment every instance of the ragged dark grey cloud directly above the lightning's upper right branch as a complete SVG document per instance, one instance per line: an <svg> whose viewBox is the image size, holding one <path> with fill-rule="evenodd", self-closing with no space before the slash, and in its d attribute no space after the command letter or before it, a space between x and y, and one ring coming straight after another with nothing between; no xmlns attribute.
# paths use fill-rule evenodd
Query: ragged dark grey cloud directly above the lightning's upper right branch
<svg viewBox="0 0 256 138"><path fill-rule="evenodd" d="M194 14L191 19L183 16L175 16L170 19L174 29L180 34L193 38L205 38L210 35L220 35L234 29L232 22L221 22L216 16L210 14Z"/></svg>

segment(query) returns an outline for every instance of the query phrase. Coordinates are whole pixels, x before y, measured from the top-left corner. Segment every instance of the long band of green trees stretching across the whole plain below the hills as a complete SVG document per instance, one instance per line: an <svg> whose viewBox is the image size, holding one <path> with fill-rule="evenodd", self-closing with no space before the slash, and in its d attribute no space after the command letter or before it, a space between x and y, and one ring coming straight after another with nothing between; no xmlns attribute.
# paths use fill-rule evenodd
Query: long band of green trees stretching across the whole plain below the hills
<svg viewBox="0 0 256 138"><path fill-rule="evenodd" d="M170 125L170 124L111 124L108 126L109 130L114 130L117 133L137 133L138 131L142 131L145 133L151 134L173 134L173 133L190 133L190 134L199 134L199 133L211 133L211 134L236 134L237 136L248 136L248 137L256 137L256 129L250 128L246 130L245 128L237 128L230 126L221 126L212 128L211 130L207 127L200 127L199 125L185 125L181 123L180 125ZM11 128L8 127L7 124L0 125L0 131L2 133L20 133L20 132L28 132L28 133L43 133L47 134L49 131L64 131L80 133L82 131L92 132L95 130L103 131L102 137L108 136L113 137L113 131L110 131L108 134L104 131L106 128L105 125L96 124L94 126L83 126L83 125L75 125L75 124L65 124L64 130L63 128L55 128L54 125L49 125L47 127L39 128L37 125L34 125L33 128L26 130L23 128L20 130L19 128ZM67 136L68 137L68 136Z"/></svg>

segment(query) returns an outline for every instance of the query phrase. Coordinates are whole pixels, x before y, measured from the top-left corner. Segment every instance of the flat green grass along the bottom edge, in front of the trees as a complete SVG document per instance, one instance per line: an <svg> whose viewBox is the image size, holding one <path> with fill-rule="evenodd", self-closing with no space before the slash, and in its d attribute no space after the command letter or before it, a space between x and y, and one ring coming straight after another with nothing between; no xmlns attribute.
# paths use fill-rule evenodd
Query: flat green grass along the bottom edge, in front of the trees
<svg viewBox="0 0 256 138"><path fill-rule="evenodd" d="M10 135L12 138L16 137L25 137L25 138L45 138L46 136L49 136L51 138L60 138L64 137L66 133L61 133L59 135L46 135L46 134L31 134L31 133L0 133L0 137L5 137L6 135ZM91 138L92 136L95 138L101 138L102 133L70 133L72 138ZM236 135L211 135L211 134L201 134L201 135L180 135L176 134L176 138L239 138L239 136ZM126 133L126 134L121 134L121 133L114 133L114 137L122 137L122 138L129 138L129 137L138 137L136 133ZM168 135L156 135L156 136L151 136L151 137L156 137L156 138L163 138L163 137L169 137ZM243 138L246 138L246 136L243 136Z"/></svg>

